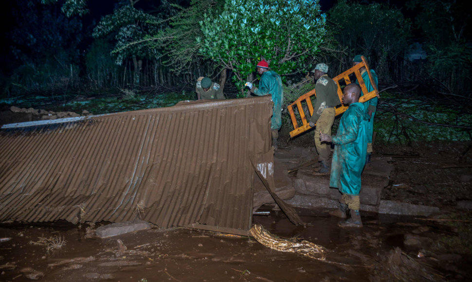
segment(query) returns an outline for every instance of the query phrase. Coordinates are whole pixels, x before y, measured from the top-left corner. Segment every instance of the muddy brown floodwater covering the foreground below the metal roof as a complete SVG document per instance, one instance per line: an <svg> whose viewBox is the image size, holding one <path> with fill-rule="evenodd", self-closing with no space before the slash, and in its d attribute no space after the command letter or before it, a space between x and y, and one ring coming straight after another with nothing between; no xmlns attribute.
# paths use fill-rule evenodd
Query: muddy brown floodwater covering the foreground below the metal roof
<svg viewBox="0 0 472 282"><path fill-rule="evenodd" d="M278 237L326 247L327 260L272 250L253 238L196 229L154 228L100 239L87 238L87 224L12 222L0 224L0 238L11 238L0 242L0 281L375 281L383 276L388 281L379 262L394 247L420 263L436 268L444 263L423 255L427 252L421 247L405 246L404 234L431 238L454 232L414 217L374 213L363 214L362 229L340 229L341 219L327 210L302 209L297 212L309 226L296 227L282 212L263 208L270 215L254 215L254 224ZM58 236L67 243L49 253L45 246L30 243ZM118 239L126 250L123 245L120 250ZM444 269L445 280L460 281L470 272L457 261L449 263L458 270Z"/></svg>

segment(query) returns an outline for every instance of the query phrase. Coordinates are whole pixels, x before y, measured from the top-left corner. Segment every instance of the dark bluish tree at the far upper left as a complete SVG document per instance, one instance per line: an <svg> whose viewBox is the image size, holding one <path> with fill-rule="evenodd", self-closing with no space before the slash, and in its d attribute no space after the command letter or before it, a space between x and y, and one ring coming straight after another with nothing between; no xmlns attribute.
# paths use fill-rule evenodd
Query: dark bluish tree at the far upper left
<svg viewBox="0 0 472 282"><path fill-rule="evenodd" d="M25 88L66 88L78 82L78 44L82 24L39 0L18 0L12 10L16 29L10 34L17 67L12 81ZM14 88L21 89L23 88Z"/></svg>

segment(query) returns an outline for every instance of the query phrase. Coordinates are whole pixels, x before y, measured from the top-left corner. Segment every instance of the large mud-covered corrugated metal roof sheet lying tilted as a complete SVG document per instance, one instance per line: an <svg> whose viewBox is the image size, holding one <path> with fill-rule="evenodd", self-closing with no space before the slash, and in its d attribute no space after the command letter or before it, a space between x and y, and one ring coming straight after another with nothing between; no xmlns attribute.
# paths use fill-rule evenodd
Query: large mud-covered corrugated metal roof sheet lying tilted
<svg viewBox="0 0 472 282"><path fill-rule="evenodd" d="M0 220L247 230L271 116L255 97L3 126Z"/></svg>

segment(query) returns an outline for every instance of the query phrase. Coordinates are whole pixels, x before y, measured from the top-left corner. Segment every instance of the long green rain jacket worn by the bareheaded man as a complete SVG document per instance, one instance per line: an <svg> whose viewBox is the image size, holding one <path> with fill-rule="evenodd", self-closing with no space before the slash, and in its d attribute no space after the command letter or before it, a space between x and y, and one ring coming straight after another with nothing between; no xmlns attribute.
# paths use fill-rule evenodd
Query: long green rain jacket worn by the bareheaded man
<svg viewBox="0 0 472 282"><path fill-rule="evenodd" d="M329 186L343 194L358 195L361 192L361 173L367 154L367 123L369 115L362 103L349 105L339 123L334 147Z"/></svg>

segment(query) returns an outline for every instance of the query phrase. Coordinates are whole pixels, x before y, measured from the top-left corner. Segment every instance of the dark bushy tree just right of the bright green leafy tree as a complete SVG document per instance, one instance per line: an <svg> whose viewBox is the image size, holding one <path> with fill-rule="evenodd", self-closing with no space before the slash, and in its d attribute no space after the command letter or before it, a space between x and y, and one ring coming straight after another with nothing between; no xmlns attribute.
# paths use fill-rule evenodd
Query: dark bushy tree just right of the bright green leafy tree
<svg viewBox="0 0 472 282"><path fill-rule="evenodd" d="M411 22L401 11L386 4L360 4L340 0L329 11L330 30L345 50L344 70L352 58L363 54L369 66L388 79L389 64L402 61L411 37Z"/></svg>

